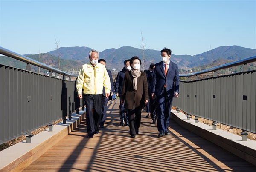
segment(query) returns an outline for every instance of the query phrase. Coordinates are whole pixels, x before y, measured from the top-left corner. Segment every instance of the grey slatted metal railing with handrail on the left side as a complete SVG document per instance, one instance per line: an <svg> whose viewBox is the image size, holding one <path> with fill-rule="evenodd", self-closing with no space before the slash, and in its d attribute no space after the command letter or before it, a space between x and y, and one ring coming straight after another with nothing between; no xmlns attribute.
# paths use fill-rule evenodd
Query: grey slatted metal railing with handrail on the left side
<svg viewBox="0 0 256 172"><path fill-rule="evenodd" d="M77 77L0 47L0 54L27 63L26 70L0 64L0 144L21 135L31 137L31 131L56 120L63 119L82 106L77 98L76 81L65 80ZM63 75L31 72L31 65ZM69 116L69 120L71 117Z"/></svg>

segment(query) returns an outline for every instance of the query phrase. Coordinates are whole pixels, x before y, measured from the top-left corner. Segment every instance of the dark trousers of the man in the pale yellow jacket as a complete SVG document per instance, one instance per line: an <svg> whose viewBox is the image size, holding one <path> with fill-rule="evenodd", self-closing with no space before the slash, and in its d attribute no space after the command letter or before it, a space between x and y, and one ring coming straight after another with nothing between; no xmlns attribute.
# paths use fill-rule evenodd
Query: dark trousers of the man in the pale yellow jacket
<svg viewBox="0 0 256 172"><path fill-rule="evenodd" d="M102 112L102 94L84 94L86 108L86 126L88 134L94 134L99 130L99 121Z"/></svg>

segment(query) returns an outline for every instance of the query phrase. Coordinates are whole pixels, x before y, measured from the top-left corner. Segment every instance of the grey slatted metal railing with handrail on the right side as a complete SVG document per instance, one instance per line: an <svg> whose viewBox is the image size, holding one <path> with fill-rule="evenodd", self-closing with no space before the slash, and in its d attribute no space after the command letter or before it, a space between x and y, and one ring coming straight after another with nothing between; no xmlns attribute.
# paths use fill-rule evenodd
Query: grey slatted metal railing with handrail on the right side
<svg viewBox="0 0 256 172"><path fill-rule="evenodd" d="M256 56L217 66L180 77L192 77L214 72L213 77L180 81L179 98L173 106L190 115L212 120L213 128L221 123L242 130L243 140L247 132L256 133L256 70L247 71L247 63ZM216 71L244 65L244 72L217 76ZM195 120L197 122L197 120Z"/></svg>

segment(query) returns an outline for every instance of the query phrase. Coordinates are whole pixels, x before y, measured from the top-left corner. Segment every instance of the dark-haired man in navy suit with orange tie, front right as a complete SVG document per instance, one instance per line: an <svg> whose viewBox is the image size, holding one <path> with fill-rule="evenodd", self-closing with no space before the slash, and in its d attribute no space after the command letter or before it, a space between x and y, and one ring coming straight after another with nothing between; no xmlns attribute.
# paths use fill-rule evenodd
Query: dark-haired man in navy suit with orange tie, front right
<svg viewBox="0 0 256 172"><path fill-rule="evenodd" d="M158 137L170 135L168 132L173 97L179 95L180 77L177 64L170 61L172 51L161 50L162 61L155 65L152 77L151 96L157 97Z"/></svg>

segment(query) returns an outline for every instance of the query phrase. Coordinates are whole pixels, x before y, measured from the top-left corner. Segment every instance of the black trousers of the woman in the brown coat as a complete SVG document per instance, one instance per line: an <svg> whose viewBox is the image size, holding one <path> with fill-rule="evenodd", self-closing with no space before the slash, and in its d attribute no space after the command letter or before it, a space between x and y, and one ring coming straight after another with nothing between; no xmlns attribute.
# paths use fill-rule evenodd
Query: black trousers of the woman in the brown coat
<svg viewBox="0 0 256 172"><path fill-rule="evenodd" d="M141 108L127 109L130 135L135 135L140 128Z"/></svg>

